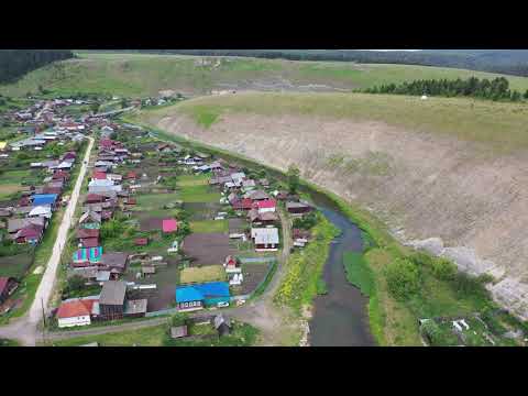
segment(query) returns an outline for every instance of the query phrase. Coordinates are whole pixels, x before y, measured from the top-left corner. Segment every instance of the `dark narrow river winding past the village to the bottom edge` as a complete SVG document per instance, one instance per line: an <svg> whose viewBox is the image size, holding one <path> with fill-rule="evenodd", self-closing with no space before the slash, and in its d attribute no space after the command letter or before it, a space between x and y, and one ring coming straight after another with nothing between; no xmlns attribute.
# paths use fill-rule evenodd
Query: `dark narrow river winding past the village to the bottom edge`
<svg viewBox="0 0 528 396"><path fill-rule="evenodd" d="M316 297L314 301L309 343L312 346L375 345L369 326L369 299L346 280L343 266L344 252L363 250L361 231L327 197L314 193L310 195L327 219L341 230L341 234L332 242L324 264L323 278L328 294Z"/></svg>

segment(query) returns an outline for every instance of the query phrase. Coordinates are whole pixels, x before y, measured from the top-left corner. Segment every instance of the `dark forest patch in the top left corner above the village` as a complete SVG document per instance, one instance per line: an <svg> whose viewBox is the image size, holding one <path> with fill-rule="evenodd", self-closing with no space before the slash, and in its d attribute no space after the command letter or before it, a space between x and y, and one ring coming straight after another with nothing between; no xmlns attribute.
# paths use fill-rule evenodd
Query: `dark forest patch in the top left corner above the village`
<svg viewBox="0 0 528 396"><path fill-rule="evenodd" d="M69 50L0 50L0 84L55 61L74 57Z"/></svg>

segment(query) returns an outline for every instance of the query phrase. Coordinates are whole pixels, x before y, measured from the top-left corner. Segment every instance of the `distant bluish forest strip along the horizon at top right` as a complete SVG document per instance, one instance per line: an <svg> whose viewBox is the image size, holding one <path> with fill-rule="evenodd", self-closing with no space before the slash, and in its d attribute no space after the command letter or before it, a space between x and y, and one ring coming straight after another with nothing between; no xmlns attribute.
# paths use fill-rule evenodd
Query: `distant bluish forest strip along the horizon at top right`
<svg viewBox="0 0 528 396"><path fill-rule="evenodd" d="M136 50L127 52L405 64L528 76L528 51L526 50L424 50L415 52L361 50Z"/></svg>

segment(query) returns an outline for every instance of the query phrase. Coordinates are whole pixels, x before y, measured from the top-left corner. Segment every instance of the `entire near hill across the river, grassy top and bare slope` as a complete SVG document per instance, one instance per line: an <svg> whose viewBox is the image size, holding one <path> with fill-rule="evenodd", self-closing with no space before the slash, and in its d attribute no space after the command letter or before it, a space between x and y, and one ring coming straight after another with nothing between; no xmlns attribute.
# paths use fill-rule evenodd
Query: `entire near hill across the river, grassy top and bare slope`
<svg viewBox="0 0 528 396"><path fill-rule="evenodd" d="M138 118L282 169L296 163L403 242L492 274L495 298L528 318L527 116L468 99L251 92Z"/></svg>

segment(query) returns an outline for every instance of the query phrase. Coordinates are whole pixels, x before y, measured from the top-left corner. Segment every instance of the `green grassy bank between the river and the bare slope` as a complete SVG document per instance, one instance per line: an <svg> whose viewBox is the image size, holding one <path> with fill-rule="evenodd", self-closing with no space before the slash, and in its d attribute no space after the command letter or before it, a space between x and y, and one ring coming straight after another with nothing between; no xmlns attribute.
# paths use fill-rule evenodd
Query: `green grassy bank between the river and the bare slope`
<svg viewBox="0 0 528 396"><path fill-rule="evenodd" d="M130 120L136 122L136 120ZM255 165L265 168L273 176L284 179L280 169L256 164L244 156L210 146L206 143L189 141L172 135L163 130L144 125L154 130L164 140L177 142L202 152L209 152L232 160L248 167ZM341 212L346 219L355 223L362 234L374 242L364 252L364 262L371 270L372 290L367 304L369 324L378 345L422 345L418 320L430 317L466 316L474 311L497 308L488 294L483 293L483 284L477 279L464 276L452 280L435 277L430 268L425 267L420 273L420 290L413 298L398 300L391 295L387 287L386 268L396 260L407 260L414 251L397 242L387 231L385 224L370 212L352 206L331 191L319 186L302 182L302 187L311 195L323 197L330 208ZM341 265L342 270L342 265ZM349 279L354 283L354 279ZM471 284L470 288L460 288L461 284ZM475 292L476 290L476 292ZM316 307L317 309L317 307ZM344 315L344 314L343 314Z"/></svg>

